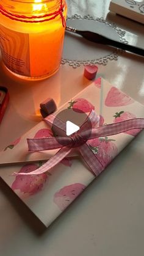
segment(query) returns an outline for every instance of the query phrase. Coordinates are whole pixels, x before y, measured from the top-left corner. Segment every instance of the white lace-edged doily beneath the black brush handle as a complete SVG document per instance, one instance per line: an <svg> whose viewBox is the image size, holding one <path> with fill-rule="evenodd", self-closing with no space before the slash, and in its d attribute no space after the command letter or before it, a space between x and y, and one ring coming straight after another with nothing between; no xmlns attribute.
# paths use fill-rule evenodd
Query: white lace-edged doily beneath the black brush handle
<svg viewBox="0 0 144 256"><path fill-rule="evenodd" d="M94 20L96 32L101 31L102 35L110 35L110 38L128 43L124 38L125 31L118 28L113 23L108 23L103 18L94 19L90 15L84 17L80 15L73 15L67 18L67 21L74 19L80 20ZM63 47L62 64L69 64L71 67L76 68L81 65L103 64L106 65L109 60L118 59L118 50L113 50L108 46L99 45L89 42L85 38L77 34L65 32L65 40Z"/></svg>

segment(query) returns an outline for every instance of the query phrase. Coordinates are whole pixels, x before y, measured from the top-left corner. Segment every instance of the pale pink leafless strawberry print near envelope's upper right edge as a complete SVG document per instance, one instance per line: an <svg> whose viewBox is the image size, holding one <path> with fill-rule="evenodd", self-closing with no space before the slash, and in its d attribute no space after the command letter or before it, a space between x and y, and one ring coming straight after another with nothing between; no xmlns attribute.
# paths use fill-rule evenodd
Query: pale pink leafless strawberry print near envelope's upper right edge
<svg viewBox="0 0 144 256"><path fill-rule="evenodd" d="M121 92L115 87L112 87L107 93L105 104L107 107L119 107L126 106L134 103L134 100L126 95L124 92Z"/></svg>

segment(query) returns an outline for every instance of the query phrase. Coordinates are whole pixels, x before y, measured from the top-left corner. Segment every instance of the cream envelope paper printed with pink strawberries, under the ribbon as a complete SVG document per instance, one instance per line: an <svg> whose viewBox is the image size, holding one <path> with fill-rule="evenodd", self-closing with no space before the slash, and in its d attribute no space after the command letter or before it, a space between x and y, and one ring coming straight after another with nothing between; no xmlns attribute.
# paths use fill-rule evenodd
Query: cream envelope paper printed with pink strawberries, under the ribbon
<svg viewBox="0 0 144 256"><path fill-rule="evenodd" d="M76 95L62 109L89 113L95 110L100 116L99 125L117 123L136 117L144 117L144 106L125 93L98 78ZM140 132L140 129L121 134L99 137L88 142L105 167ZM31 172L55 155L57 150L27 152L27 138L54 136L48 123L41 121L32 130L7 145L0 153L1 178L23 200L29 209L48 227L62 211L92 182L95 175L87 169L77 153L68 155L57 166L44 174L13 176L13 172ZM70 157L71 156L71 157ZM33 160L37 160L35 163ZM10 163L19 164L10 164ZM45 162L44 162L45 163ZM2 166L1 164L6 164Z"/></svg>

